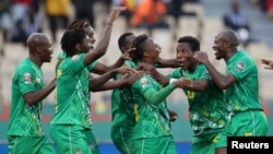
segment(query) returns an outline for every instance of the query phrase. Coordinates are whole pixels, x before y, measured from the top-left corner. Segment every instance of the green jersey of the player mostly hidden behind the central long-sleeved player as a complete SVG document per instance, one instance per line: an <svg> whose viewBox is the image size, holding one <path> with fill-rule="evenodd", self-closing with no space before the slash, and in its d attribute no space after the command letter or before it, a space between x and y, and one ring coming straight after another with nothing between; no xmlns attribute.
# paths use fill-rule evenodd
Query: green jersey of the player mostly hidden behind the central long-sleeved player
<svg viewBox="0 0 273 154"><path fill-rule="evenodd" d="M135 68L135 63L126 60L124 64ZM115 78L117 80L119 76ZM131 87L115 88L111 94L111 125L112 126L134 126L133 97Z"/></svg>

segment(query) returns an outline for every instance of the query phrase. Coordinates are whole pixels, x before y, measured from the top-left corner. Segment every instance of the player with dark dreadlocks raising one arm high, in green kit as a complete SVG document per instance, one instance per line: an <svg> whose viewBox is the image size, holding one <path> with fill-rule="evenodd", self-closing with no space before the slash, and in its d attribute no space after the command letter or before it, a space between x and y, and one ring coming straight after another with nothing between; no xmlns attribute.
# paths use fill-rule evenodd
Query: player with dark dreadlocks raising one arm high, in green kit
<svg viewBox="0 0 273 154"><path fill-rule="evenodd" d="M57 70L56 114L50 122L50 135L60 153L91 153L86 142L86 131L90 132L90 86L88 70L96 59L102 57L109 44L111 26L123 7L115 8L106 24L103 38L93 49L86 33L80 29L67 31L61 39L66 58ZM72 39L73 38L73 39ZM93 39L93 38L91 38ZM93 49L92 51L90 51ZM91 85L104 84L120 69L112 70L103 79L94 79ZM70 96L70 97L68 97Z"/></svg>

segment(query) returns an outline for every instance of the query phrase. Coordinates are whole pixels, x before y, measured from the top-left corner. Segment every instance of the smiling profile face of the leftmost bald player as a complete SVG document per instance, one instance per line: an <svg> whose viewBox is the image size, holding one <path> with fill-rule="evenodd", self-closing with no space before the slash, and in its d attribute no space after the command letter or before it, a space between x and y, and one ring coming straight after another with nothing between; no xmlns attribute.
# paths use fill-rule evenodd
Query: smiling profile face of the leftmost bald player
<svg viewBox="0 0 273 154"><path fill-rule="evenodd" d="M43 46L38 47L38 51L40 54L41 62L50 62L54 54L51 40L46 38Z"/></svg>

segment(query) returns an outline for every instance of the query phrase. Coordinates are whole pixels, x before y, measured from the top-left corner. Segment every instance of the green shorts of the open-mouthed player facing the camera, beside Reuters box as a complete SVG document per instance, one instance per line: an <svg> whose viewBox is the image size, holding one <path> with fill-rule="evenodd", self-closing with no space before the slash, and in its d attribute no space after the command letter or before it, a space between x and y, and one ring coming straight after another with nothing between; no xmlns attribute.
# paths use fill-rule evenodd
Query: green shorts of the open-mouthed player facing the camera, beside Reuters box
<svg viewBox="0 0 273 154"><path fill-rule="evenodd" d="M191 154L214 154L217 147L227 146L226 128L206 130L192 137Z"/></svg>

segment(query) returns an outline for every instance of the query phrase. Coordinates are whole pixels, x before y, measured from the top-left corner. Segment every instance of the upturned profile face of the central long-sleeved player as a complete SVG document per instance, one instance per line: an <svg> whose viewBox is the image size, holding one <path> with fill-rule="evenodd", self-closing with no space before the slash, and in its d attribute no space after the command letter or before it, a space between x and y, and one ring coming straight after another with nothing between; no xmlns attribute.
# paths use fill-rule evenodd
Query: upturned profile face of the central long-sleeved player
<svg viewBox="0 0 273 154"><path fill-rule="evenodd" d="M147 45L146 51L149 54L150 60L154 63L157 62L159 60L159 54L162 52L162 48L153 38L149 38L145 42Z"/></svg>

